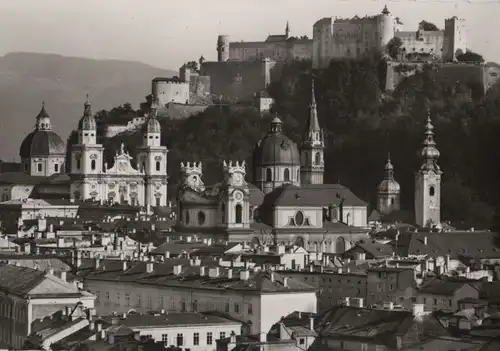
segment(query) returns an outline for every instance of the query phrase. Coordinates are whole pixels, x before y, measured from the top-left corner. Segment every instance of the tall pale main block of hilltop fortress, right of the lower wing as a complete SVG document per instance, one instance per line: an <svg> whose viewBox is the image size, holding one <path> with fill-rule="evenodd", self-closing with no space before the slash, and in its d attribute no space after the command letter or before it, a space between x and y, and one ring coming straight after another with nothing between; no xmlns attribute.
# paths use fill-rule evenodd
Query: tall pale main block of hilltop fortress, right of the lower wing
<svg viewBox="0 0 500 351"><path fill-rule="evenodd" d="M464 19L445 20L444 30L403 31L403 23L387 6L382 13L344 19L325 17L313 26L313 68L326 68L335 58L359 58L370 52L383 52L394 38L400 38L405 54L425 53L450 62L467 50Z"/></svg>

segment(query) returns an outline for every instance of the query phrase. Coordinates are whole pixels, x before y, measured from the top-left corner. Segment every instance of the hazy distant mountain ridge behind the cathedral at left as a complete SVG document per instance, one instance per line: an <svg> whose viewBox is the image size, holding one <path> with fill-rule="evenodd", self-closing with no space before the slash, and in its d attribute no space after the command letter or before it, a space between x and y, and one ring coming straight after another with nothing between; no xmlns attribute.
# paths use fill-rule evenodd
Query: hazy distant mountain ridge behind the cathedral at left
<svg viewBox="0 0 500 351"><path fill-rule="evenodd" d="M94 112L125 102L137 109L150 93L152 78L175 74L133 61L6 54L0 57L0 159L19 159L19 147L33 130L42 100L53 130L66 140L82 116L87 93Z"/></svg>

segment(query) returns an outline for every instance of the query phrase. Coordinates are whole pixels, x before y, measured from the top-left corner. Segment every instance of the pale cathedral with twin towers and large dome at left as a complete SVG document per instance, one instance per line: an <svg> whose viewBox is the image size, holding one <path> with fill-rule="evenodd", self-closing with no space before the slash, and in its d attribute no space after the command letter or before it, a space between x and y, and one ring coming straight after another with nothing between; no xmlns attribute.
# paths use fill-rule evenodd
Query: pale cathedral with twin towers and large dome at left
<svg viewBox="0 0 500 351"><path fill-rule="evenodd" d="M45 104L36 117L35 130L21 144L21 172L0 175L2 201L27 198L94 201L102 204L166 206L167 148L162 146L161 127L153 104L143 126L137 168L121 145L112 165L104 161L104 147L97 143L97 124L87 98L78 123L78 142L70 150L52 130Z"/></svg>

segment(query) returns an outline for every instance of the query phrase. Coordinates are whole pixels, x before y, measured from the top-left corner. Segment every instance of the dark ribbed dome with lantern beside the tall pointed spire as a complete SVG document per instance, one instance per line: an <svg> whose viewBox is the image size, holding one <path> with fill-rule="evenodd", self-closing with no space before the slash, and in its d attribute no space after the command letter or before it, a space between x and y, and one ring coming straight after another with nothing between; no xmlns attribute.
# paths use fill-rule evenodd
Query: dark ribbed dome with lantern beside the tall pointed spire
<svg viewBox="0 0 500 351"><path fill-rule="evenodd" d="M300 165L297 144L283 134L277 116L271 121L267 135L257 143L253 160L255 166Z"/></svg>

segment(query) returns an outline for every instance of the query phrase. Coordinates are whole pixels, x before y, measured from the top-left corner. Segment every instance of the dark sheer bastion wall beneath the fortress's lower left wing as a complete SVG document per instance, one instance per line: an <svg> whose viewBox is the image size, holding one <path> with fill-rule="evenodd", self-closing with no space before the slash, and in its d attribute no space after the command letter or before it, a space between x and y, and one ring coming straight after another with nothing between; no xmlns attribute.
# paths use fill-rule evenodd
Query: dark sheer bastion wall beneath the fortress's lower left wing
<svg viewBox="0 0 500 351"><path fill-rule="evenodd" d="M204 62L201 75L210 77L210 90L227 100L253 99L271 82L273 61Z"/></svg>

